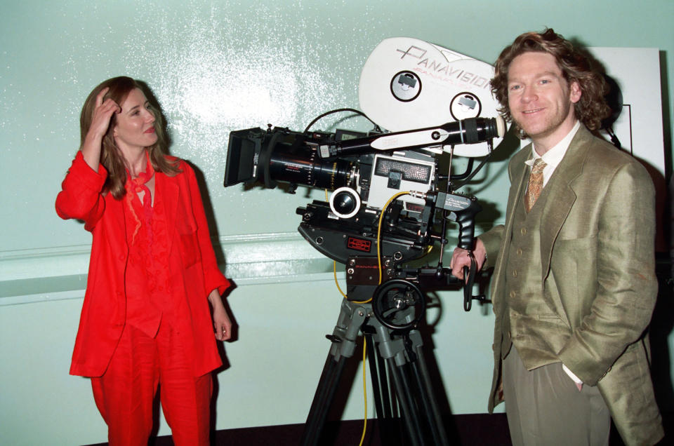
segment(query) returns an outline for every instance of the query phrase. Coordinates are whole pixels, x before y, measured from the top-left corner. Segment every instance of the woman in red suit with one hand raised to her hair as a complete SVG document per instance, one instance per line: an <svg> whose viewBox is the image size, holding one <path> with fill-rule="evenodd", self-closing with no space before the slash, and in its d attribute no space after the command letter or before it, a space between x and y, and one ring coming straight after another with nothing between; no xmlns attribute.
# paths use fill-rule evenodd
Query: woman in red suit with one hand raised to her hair
<svg viewBox="0 0 674 446"><path fill-rule="evenodd" d="M147 445L158 384L175 444L208 445L216 339L232 329L194 172L166 155L159 119L131 78L94 88L56 198L93 235L70 373L91 377L110 445Z"/></svg>

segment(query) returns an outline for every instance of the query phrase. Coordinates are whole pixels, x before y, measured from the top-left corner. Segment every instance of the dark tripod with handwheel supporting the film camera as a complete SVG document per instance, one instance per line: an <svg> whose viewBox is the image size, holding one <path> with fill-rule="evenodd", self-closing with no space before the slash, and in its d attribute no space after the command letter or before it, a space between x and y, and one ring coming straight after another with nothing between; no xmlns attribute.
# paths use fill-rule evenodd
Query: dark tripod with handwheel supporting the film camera
<svg viewBox="0 0 674 446"><path fill-rule="evenodd" d="M359 332L375 347L368 357L378 419L392 419L397 401L411 445L449 445L416 330L424 316L424 297L416 285L403 280L380 288L371 302L343 299L335 329L327 336L332 344L307 417L303 446L318 444Z"/></svg>

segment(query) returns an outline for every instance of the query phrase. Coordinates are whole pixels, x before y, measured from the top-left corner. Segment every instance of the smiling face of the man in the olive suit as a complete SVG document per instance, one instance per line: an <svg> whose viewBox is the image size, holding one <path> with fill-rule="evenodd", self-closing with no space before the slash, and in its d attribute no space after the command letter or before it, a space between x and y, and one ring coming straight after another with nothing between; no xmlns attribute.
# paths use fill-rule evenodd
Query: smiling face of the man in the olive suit
<svg viewBox="0 0 674 446"><path fill-rule="evenodd" d="M510 114L534 141L539 154L548 151L571 131L576 123L573 105L580 98L579 84L574 81L569 85L555 56L529 52L510 62Z"/></svg>

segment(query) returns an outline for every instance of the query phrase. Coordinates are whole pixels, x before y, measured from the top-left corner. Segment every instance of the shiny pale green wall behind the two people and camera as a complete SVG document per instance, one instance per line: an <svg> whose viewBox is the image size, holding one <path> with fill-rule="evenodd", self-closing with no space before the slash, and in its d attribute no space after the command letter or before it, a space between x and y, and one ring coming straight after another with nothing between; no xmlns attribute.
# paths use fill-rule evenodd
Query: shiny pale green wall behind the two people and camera
<svg viewBox="0 0 674 446"><path fill-rule="evenodd" d="M213 236L238 284L229 302L239 339L226 344L230 368L218 375L218 428L304 421L340 299L328 262L296 235L295 208L322 192L223 189L230 130L303 130L319 113L358 108L364 60L391 36L491 62L517 34L550 26L588 46L659 48L663 85L674 81L670 0L251 3L0 1L1 444L105 440L88 381L67 374L91 237L53 210L81 104L103 79L146 81L173 154L204 173ZM670 149L670 87L663 97ZM496 208L486 225L502 217L504 167L491 163L473 189ZM490 311L464 313L457 293L441 297L433 342L447 398L454 413L486 412ZM344 419L361 416L360 394L356 383Z"/></svg>

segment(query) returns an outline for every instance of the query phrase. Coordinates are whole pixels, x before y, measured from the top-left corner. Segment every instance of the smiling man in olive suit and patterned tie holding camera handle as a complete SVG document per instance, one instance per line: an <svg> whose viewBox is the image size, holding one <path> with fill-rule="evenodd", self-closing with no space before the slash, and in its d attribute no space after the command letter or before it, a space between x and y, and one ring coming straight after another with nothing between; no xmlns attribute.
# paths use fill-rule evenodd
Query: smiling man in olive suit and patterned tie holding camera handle
<svg viewBox="0 0 674 446"><path fill-rule="evenodd" d="M657 294L655 192L645 168L591 133L610 110L588 58L552 29L503 50L491 87L531 144L508 165L505 224L457 248L494 267L494 381L515 445L663 437L649 373Z"/></svg>

